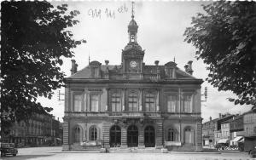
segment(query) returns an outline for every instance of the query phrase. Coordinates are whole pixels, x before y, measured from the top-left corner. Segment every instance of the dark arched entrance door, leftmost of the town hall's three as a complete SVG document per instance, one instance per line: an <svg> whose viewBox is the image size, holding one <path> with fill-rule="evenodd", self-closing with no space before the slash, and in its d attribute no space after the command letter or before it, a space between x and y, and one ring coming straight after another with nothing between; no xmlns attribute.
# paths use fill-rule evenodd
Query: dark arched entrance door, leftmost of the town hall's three
<svg viewBox="0 0 256 160"><path fill-rule="evenodd" d="M121 129L117 125L112 126L110 129L109 145L111 147L121 146Z"/></svg>

